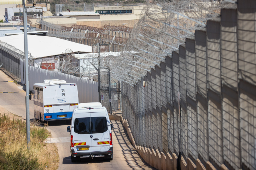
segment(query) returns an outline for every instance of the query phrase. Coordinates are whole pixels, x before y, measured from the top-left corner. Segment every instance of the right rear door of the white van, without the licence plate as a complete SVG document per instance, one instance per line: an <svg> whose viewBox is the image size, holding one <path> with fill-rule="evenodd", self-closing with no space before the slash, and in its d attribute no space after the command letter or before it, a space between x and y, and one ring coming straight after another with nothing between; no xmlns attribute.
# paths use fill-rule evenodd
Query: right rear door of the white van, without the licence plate
<svg viewBox="0 0 256 170"><path fill-rule="evenodd" d="M104 108L91 109L92 151L108 151L110 148L109 120Z"/></svg>

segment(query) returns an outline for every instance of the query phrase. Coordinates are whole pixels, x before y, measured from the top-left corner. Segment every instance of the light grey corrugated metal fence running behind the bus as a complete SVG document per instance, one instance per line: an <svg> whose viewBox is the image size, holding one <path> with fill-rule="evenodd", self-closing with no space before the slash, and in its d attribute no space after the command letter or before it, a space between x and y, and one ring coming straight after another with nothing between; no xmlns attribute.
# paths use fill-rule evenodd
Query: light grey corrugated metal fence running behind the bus
<svg viewBox="0 0 256 170"><path fill-rule="evenodd" d="M24 65L23 62L21 63L22 63L21 65ZM42 83L45 79L65 80L67 83L77 84L79 103L99 102L97 82L88 81L76 76L59 73L57 71L47 71L47 70L33 67L33 66L29 66L28 71L29 71L29 90L33 90L33 84ZM24 74L23 69L21 69L21 75L23 74ZM24 84L23 76L21 76L21 82Z"/></svg>

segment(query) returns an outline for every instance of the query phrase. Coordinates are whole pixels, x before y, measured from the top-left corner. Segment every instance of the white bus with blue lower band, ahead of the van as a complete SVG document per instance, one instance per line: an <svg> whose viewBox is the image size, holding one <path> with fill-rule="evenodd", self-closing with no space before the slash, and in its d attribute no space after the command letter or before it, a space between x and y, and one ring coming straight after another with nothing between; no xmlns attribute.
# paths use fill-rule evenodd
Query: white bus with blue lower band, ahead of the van
<svg viewBox="0 0 256 170"><path fill-rule="evenodd" d="M65 120L78 106L77 84L45 80L34 84L34 117L41 121Z"/></svg>

